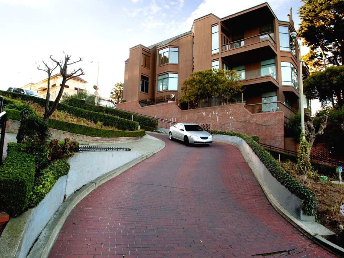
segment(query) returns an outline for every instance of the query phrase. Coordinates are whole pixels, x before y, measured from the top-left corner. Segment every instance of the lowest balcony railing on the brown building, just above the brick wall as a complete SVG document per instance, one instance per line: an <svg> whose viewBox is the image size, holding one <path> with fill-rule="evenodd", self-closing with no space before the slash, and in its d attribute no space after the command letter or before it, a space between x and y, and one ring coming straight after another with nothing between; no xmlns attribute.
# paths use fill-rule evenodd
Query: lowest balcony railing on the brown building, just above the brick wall
<svg viewBox="0 0 344 258"><path fill-rule="evenodd" d="M291 119L297 113L297 111L291 109L287 105L283 104L281 101L250 104L250 105L245 105L245 108L248 111L250 111L252 114L283 111L284 117L288 119Z"/></svg>

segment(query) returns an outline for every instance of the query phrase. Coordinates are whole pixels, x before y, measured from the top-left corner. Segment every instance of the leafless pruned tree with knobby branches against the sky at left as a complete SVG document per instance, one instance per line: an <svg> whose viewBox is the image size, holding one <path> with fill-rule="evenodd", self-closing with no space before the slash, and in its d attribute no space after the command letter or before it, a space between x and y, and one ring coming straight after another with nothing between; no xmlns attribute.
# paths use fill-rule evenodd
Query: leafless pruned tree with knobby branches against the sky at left
<svg viewBox="0 0 344 258"><path fill-rule="evenodd" d="M64 52L63 52L64 53ZM56 60L53 58L53 56L50 56L50 60L52 61L52 65L51 67L47 64L47 62L43 62L45 68L40 68L40 65L37 66L37 69L44 71L48 74L48 82L47 82L47 94L46 94L46 104L45 104L45 108L44 108L44 119L49 119L49 117L54 113L58 102L60 101L62 94L63 94L63 90L64 87L66 85L66 82L70 79L73 79L75 77L78 77L80 75L84 75L84 71L82 68L79 69L74 69L72 72L67 71L68 65L72 65L75 63L78 63L80 61L82 61L82 58L79 57L79 59L77 61L74 62L70 62L71 60L71 55L67 55L66 53L64 53L64 60ZM58 92L56 99L54 101L54 104L49 107L49 102L50 102L50 77L52 72L55 70L55 68L60 67L60 74L62 75L62 84L61 84L61 88L60 91Z"/></svg>

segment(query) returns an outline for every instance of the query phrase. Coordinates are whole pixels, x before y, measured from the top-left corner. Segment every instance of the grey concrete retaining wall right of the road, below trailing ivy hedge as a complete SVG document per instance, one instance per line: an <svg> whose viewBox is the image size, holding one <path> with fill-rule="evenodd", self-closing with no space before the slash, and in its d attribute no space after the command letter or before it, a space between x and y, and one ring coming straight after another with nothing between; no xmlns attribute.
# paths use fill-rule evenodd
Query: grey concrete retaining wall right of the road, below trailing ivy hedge
<svg viewBox="0 0 344 258"><path fill-rule="evenodd" d="M271 194L291 215L303 221L314 221L314 216L305 216L302 214L302 200L291 193L271 175L269 170L248 146L246 141L240 137L229 135L213 135L213 139L215 141L225 141L237 145L241 151L244 152L243 154L246 161L251 162L255 166L257 172L259 173L258 176L264 180L266 185L269 187Z"/></svg>

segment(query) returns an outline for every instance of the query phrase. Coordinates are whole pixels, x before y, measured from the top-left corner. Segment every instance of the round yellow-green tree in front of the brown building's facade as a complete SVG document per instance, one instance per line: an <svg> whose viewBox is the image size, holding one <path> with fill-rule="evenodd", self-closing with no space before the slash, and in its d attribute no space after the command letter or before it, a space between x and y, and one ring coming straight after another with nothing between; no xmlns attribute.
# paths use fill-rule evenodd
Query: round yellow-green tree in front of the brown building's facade
<svg viewBox="0 0 344 258"><path fill-rule="evenodd" d="M194 72L182 83L181 103L200 103L204 99L218 97L224 100L241 92L240 75L235 71L207 69Z"/></svg>

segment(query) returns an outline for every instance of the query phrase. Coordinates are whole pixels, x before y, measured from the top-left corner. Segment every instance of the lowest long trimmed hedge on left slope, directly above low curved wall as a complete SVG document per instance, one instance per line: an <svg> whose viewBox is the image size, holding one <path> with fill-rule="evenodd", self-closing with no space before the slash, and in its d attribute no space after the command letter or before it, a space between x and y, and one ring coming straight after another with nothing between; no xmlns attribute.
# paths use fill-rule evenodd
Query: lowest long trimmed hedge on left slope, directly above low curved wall
<svg viewBox="0 0 344 258"><path fill-rule="evenodd" d="M20 111L14 109L3 110L7 112L7 119L21 120ZM143 129L135 131L99 129L84 125L77 125L76 123L59 121L55 119L49 119L49 127L61 131L78 133L80 135L92 137L137 137L146 135L146 132Z"/></svg>

